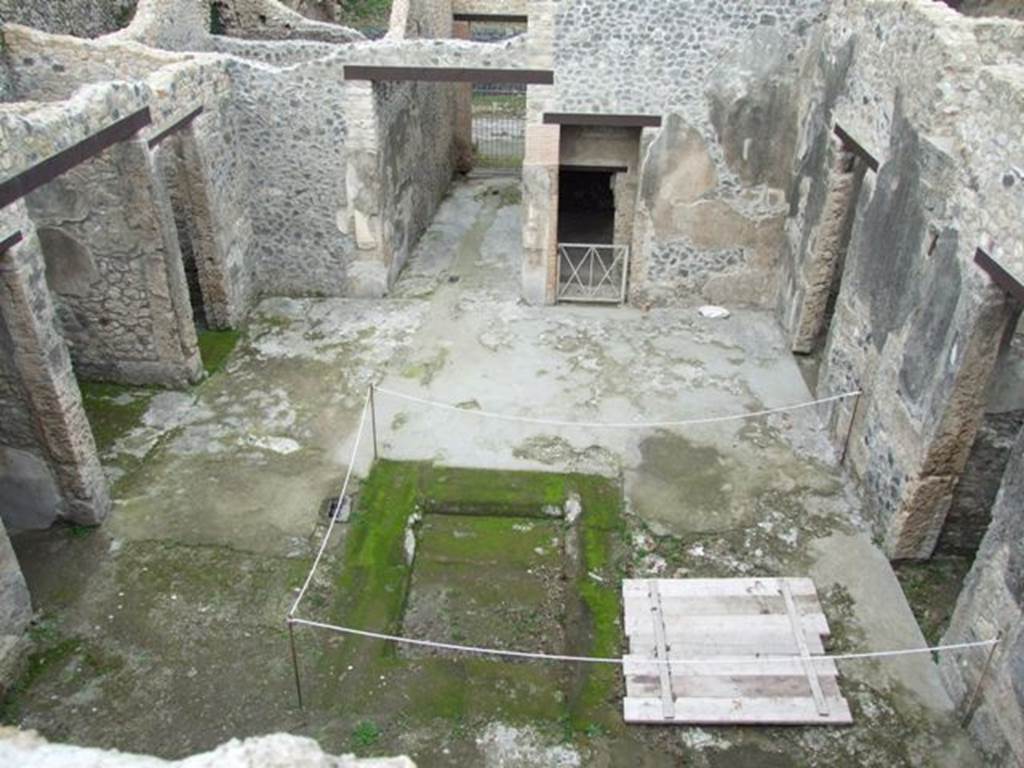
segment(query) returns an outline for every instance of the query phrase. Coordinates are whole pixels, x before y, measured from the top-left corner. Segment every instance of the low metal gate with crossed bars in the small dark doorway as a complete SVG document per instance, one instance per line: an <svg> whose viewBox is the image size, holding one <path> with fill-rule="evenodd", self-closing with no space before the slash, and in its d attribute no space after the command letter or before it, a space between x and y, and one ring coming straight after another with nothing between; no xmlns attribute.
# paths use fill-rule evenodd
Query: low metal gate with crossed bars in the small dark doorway
<svg viewBox="0 0 1024 768"><path fill-rule="evenodd" d="M559 243L558 301L624 303L629 264L629 246Z"/></svg>

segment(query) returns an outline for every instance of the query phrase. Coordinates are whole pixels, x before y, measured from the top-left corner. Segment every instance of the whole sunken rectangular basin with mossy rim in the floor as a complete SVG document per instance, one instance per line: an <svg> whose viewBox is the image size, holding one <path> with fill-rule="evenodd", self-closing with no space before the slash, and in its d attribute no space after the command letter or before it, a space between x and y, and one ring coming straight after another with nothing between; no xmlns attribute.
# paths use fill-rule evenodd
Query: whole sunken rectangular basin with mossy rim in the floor
<svg viewBox="0 0 1024 768"><path fill-rule="evenodd" d="M305 617L445 643L621 655L623 497L611 479L377 462ZM622 728L614 665L399 646L308 631L311 706L345 727ZM326 647L323 647L326 645ZM371 728L372 725L372 728ZM424 756L420 756L421 759Z"/></svg>

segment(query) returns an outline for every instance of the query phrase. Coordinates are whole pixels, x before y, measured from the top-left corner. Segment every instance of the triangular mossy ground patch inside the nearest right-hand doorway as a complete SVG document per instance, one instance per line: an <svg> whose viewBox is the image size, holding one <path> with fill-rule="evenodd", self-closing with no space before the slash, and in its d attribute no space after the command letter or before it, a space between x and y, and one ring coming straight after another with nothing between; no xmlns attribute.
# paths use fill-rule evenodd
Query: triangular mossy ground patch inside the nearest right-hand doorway
<svg viewBox="0 0 1024 768"><path fill-rule="evenodd" d="M937 645L949 626L971 563L970 557L944 555L895 566L896 578L929 645Z"/></svg>

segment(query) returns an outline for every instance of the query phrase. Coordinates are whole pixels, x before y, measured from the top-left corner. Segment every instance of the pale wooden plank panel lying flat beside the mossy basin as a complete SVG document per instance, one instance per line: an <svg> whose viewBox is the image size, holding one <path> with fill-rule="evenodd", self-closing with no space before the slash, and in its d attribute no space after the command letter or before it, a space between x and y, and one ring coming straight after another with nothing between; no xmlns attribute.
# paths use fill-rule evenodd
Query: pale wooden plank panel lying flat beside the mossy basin
<svg viewBox="0 0 1024 768"><path fill-rule="evenodd" d="M628 579L623 605L627 723L853 722L810 579Z"/></svg>

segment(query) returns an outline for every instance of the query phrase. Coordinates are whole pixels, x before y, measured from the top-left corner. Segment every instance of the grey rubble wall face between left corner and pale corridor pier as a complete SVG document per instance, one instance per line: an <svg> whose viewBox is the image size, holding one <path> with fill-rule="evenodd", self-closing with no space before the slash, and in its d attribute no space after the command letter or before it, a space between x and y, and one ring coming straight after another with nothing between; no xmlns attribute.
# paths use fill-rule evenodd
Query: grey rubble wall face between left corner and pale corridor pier
<svg viewBox="0 0 1024 768"><path fill-rule="evenodd" d="M234 151L248 166L256 292L344 295L354 253L340 228L351 86L334 59L276 69L236 58L228 73Z"/></svg>

